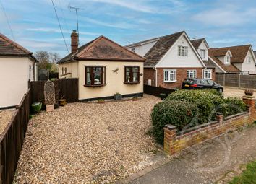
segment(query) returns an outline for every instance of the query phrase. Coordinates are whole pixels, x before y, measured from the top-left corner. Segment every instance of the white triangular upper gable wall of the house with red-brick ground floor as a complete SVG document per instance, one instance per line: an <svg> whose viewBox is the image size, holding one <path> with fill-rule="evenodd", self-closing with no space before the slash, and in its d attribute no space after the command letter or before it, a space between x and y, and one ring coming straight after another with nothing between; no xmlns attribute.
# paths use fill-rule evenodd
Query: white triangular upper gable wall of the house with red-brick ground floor
<svg viewBox="0 0 256 184"><path fill-rule="evenodd" d="M188 56L178 56L178 46L188 47ZM174 68L187 68L187 67L204 67L200 61L200 56L197 56L197 51L194 51L185 36L183 35L171 49L166 53L156 67L174 67Z"/></svg>

